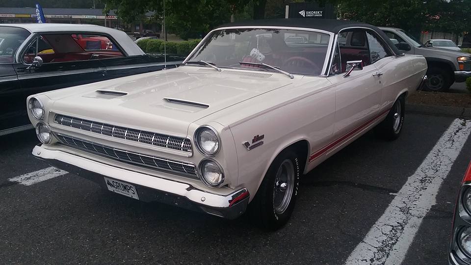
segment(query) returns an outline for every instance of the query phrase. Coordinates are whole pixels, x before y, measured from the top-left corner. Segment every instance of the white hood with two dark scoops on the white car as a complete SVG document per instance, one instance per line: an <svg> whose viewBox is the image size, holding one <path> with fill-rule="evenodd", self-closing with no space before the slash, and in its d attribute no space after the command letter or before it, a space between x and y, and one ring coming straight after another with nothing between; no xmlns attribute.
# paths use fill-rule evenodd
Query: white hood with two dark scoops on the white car
<svg viewBox="0 0 471 265"><path fill-rule="evenodd" d="M278 73L184 66L46 95L53 112L184 136L191 122L291 82Z"/></svg>

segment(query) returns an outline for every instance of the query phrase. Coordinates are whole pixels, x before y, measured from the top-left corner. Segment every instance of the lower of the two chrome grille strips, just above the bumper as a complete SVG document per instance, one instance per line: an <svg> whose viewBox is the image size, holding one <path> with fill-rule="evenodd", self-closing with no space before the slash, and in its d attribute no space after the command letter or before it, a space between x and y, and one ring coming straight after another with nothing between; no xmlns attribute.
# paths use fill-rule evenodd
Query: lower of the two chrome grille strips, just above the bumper
<svg viewBox="0 0 471 265"><path fill-rule="evenodd" d="M117 159L120 161L138 164L146 167L157 168L159 170L189 175L196 178L196 167L192 163L163 159L149 155L129 152L85 140L78 139L63 134L56 134L57 139L63 145L77 148L89 153L94 153L104 157Z"/></svg>

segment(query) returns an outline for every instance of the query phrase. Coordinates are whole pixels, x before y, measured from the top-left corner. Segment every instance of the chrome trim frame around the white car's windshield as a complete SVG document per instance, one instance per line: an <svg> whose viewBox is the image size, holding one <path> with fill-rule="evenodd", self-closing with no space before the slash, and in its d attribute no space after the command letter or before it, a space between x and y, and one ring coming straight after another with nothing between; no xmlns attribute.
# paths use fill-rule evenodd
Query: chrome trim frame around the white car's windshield
<svg viewBox="0 0 471 265"><path fill-rule="evenodd" d="M303 74L295 74L295 73L293 73L293 75L295 75L295 76L327 77L326 72L327 72L327 70L328 70L328 64L329 64L329 62L330 62L330 57L331 57L331 54L332 54L332 46L333 46L333 43L334 43L335 34L334 34L333 32L330 32L330 31L325 31L325 30L315 29L315 28L307 28L307 27L280 27L280 26L218 27L218 28L215 28L215 29L209 31L209 33L206 34L206 36L200 41L200 43L198 43L198 45L193 49L193 51L191 51L191 53L188 54L188 56L186 56L186 58L183 60L182 65L184 65L184 64L186 63L186 61L187 61L191 56L193 56L194 53L196 53L196 51L203 45L203 43L209 39L209 36L211 35L212 32L217 31L217 30L224 30L224 29L240 29L240 28L304 30L304 31L312 31L312 32L324 33L324 34L329 35L329 43L327 44L327 51L326 51L326 53L325 53L324 64L323 64L323 66L322 66L322 70L320 71L321 74L320 74L320 75L303 75ZM219 67L219 68L234 68L234 67L225 67L225 66L219 66L219 65L218 65L218 67ZM243 68L243 69L246 69L246 68ZM263 71L263 72L272 72L272 71L266 71L266 69L250 69L250 70Z"/></svg>

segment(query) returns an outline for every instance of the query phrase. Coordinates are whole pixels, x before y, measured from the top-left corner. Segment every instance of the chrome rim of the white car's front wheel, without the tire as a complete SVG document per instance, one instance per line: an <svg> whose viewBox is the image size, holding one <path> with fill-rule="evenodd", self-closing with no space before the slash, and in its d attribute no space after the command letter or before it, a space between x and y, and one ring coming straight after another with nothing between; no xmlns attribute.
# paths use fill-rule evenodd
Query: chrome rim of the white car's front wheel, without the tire
<svg viewBox="0 0 471 265"><path fill-rule="evenodd" d="M294 165L285 159L276 172L275 185L273 185L273 207L277 214L288 209L294 190Z"/></svg>

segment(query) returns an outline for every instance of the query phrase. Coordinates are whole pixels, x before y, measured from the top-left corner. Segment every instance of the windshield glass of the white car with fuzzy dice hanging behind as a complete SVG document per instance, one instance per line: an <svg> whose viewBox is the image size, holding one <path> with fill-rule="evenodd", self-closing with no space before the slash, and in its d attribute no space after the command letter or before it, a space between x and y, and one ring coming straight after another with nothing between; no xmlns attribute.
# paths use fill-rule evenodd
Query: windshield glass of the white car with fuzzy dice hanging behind
<svg viewBox="0 0 471 265"><path fill-rule="evenodd" d="M318 76L326 60L329 40L329 34L316 31L221 29L211 32L200 48L188 57L188 61L203 60L220 68L276 72L262 65L254 65L264 63L291 74Z"/></svg>

